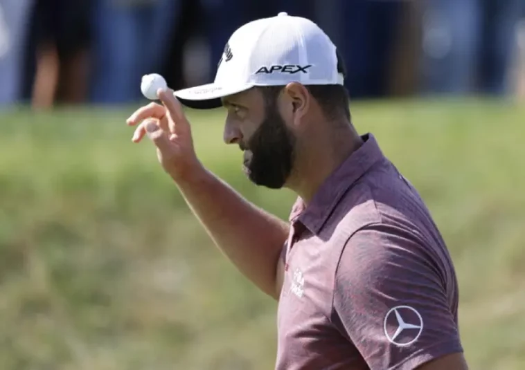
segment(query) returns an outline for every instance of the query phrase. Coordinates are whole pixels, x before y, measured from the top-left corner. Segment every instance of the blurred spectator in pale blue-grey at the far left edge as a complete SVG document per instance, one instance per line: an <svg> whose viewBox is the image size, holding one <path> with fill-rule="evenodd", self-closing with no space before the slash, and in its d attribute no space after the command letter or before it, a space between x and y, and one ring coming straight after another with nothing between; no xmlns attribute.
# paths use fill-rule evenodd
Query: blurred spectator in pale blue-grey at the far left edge
<svg viewBox="0 0 525 370"><path fill-rule="evenodd" d="M33 0L0 1L0 106L15 104L21 82L28 17Z"/></svg>

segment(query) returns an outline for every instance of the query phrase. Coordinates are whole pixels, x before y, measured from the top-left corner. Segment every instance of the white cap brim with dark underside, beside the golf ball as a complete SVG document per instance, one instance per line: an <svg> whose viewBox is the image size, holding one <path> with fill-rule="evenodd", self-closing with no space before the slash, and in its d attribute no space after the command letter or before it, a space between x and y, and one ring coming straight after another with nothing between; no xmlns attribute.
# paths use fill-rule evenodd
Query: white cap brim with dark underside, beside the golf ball
<svg viewBox="0 0 525 370"><path fill-rule="evenodd" d="M221 98L251 89L253 85L221 86L206 84L175 91L173 95L186 107L193 109L214 109L222 107Z"/></svg>

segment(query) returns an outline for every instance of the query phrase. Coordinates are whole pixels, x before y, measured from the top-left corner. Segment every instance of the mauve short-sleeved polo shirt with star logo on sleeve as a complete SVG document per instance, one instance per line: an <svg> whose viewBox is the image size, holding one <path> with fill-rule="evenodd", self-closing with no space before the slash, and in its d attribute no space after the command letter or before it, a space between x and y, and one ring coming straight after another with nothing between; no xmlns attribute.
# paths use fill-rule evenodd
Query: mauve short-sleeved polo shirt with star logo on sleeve
<svg viewBox="0 0 525 370"><path fill-rule="evenodd" d="M374 136L362 138L290 214L277 370L408 370L463 351L445 242Z"/></svg>

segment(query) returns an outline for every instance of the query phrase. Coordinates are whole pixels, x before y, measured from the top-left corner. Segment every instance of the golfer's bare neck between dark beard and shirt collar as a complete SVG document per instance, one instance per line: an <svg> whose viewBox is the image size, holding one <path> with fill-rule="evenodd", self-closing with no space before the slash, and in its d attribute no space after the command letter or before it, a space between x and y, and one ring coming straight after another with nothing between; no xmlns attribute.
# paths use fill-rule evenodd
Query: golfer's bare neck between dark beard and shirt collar
<svg viewBox="0 0 525 370"><path fill-rule="evenodd" d="M338 128L337 132L312 137L314 140L305 143L303 150L300 149L301 160L296 163L296 171L288 186L307 205L330 174L363 143L350 124Z"/></svg>

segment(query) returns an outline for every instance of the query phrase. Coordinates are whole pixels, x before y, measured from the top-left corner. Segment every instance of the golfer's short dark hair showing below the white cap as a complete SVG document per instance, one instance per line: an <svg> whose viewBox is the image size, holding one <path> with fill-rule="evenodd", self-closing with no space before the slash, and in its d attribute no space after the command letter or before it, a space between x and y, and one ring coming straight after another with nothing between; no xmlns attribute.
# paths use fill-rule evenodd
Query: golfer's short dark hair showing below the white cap
<svg viewBox="0 0 525 370"><path fill-rule="evenodd" d="M343 58L336 50L337 72L346 77L346 68ZM273 104L284 86L260 86L266 104ZM344 85L306 85L312 97L317 101L323 110L326 118L333 120L344 115L350 120L350 96Z"/></svg>

